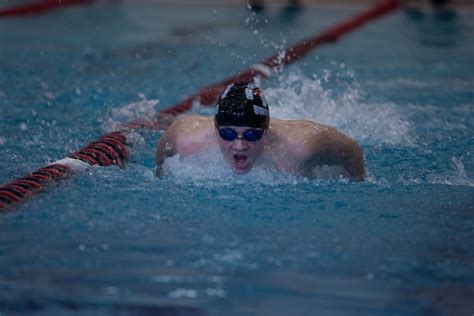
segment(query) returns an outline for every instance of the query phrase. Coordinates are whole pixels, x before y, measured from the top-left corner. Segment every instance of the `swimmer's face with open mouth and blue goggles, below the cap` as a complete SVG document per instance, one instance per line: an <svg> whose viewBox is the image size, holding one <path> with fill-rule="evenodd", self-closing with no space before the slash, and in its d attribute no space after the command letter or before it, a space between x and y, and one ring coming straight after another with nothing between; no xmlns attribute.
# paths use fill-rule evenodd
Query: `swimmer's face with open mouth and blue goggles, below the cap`
<svg viewBox="0 0 474 316"><path fill-rule="evenodd" d="M237 135L234 135L235 139L229 140L233 138L232 131L235 131ZM254 139L255 136L258 137L258 134L264 136L262 133L263 129L242 126L219 126L216 128L217 142L221 152L235 173L243 174L252 169L263 151L263 137L258 140Z"/></svg>

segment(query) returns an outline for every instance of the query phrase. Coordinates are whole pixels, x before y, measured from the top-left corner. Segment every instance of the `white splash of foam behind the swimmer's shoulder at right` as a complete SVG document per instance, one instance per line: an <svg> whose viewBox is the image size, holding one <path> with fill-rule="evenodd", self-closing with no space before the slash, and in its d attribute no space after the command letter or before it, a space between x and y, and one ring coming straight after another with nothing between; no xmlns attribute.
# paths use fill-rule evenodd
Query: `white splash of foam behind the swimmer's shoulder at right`
<svg viewBox="0 0 474 316"><path fill-rule="evenodd" d="M331 77L341 76L349 80L329 85ZM273 117L308 119L334 126L359 142L413 144L408 118L395 104L365 101L350 70L325 70L312 78L292 71L278 86L264 89L264 93Z"/></svg>

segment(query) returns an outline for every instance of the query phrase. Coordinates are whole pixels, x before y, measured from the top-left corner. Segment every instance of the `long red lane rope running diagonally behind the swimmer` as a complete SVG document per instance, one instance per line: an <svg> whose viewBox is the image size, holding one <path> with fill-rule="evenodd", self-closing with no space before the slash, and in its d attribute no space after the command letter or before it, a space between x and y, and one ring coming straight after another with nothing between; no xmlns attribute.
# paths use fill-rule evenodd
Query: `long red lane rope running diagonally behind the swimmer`
<svg viewBox="0 0 474 316"><path fill-rule="evenodd" d="M65 0L62 0L64 2ZM82 1L82 0L70 0ZM363 24L381 17L400 6L397 0L386 0L373 8L356 15L355 17L335 25L321 34L304 40L287 49L284 54L275 54L262 63L244 69L218 83L212 84L189 96L183 101L161 110L157 117L140 118L123 126L123 131L112 132L102 136L99 140L90 143L83 149L56 163L40 168L25 177L17 179L4 186L0 186L0 213L11 211L12 206L24 201L28 196L43 190L44 185L67 178L71 173L79 172L89 165L123 166L128 158L126 147L126 131L130 128L161 129L168 126L173 119L189 109L194 102L211 106L216 104L222 90L236 81L252 81L256 77L267 78L271 72L284 64L290 64L308 54L311 50L328 42L334 42L344 34L353 31ZM1 12L1 11L0 11Z"/></svg>

